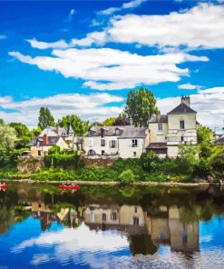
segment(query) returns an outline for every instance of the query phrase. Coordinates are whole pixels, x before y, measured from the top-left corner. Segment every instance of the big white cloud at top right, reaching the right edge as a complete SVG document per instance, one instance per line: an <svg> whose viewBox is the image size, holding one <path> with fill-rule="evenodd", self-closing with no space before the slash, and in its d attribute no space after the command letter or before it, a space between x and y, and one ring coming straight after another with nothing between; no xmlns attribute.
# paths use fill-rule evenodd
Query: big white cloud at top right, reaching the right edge
<svg viewBox="0 0 224 269"><path fill-rule="evenodd" d="M124 15L112 18L108 34L114 42L224 47L224 6L200 4L170 15Z"/></svg>

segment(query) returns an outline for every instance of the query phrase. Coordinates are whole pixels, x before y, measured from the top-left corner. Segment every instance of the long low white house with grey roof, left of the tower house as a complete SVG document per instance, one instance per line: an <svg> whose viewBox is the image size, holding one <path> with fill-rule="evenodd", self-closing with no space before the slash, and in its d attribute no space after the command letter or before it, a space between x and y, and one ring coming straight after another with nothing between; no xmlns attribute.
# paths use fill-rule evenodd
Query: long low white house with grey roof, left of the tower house
<svg viewBox="0 0 224 269"><path fill-rule="evenodd" d="M139 158L149 144L149 130L134 126L93 126L83 135L85 155Z"/></svg>

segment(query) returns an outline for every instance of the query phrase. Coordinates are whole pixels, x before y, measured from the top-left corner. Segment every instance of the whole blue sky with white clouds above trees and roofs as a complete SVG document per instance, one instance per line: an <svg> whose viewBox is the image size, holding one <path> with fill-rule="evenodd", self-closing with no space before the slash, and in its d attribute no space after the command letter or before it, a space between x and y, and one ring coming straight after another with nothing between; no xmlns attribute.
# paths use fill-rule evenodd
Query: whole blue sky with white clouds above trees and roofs
<svg viewBox="0 0 224 269"><path fill-rule="evenodd" d="M0 2L0 117L118 115L147 87L161 113L191 95L204 125L224 120L224 6L217 1Z"/></svg>

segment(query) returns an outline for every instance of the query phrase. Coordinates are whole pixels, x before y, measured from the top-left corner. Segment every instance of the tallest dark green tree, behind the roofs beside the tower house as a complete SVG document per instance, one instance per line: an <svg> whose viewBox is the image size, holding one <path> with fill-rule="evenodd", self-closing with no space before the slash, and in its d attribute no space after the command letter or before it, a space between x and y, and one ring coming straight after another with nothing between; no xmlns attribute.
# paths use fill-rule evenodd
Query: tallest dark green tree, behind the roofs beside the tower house
<svg viewBox="0 0 224 269"><path fill-rule="evenodd" d="M149 125L151 115L160 114L154 95L143 88L128 94L124 112L131 118L133 125L145 127Z"/></svg>

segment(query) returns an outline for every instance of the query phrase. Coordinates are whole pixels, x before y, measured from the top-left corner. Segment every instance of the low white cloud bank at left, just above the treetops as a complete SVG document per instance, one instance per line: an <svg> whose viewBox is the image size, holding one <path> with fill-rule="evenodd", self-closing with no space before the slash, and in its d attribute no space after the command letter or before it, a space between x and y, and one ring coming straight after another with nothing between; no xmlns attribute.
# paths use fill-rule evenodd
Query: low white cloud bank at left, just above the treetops
<svg viewBox="0 0 224 269"><path fill-rule="evenodd" d="M112 105L111 105L112 103ZM115 104L114 104L115 103ZM84 119L102 120L108 116L118 115L123 109L123 98L118 95L92 94L92 95L53 95L45 98L32 98L21 102L11 97L0 97L0 118L7 122L21 122L28 126L37 125L39 109L47 106L55 119L63 115L79 115ZM8 113L7 110L14 112Z"/></svg>

